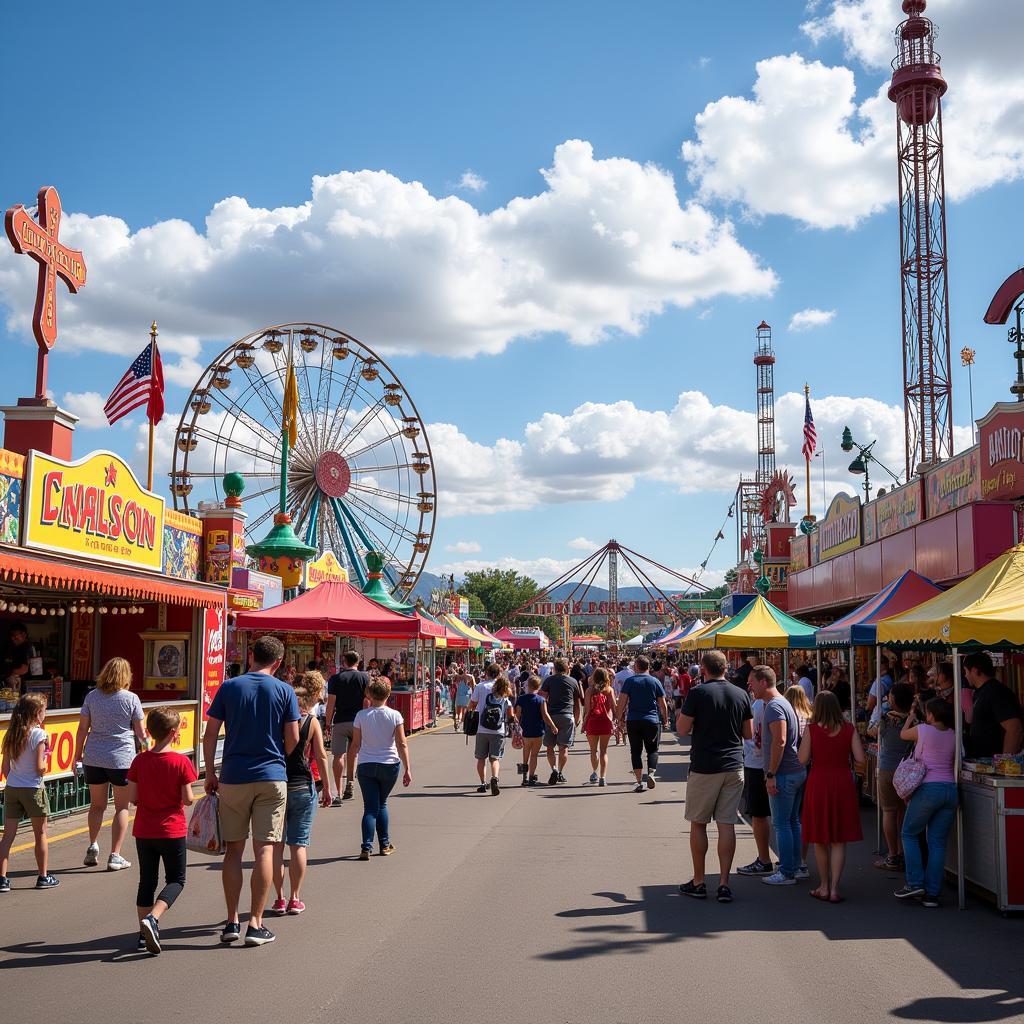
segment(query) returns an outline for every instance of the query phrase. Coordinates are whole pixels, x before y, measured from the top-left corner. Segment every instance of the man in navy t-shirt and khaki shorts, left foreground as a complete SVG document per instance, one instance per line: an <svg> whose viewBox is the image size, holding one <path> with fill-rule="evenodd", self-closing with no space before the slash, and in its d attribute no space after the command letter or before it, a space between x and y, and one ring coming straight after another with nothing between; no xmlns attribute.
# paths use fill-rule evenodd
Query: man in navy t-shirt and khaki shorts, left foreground
<svg viewBox="0 0 1024 1024"><path fill-rule="evenodd" d="M295 690L274 678L285 656L276 637L260 637L252 647L252 669L226 679L214 695L203 734L206 792L216 793L220 830L227 848L222 882L227 923L221 942L241 938L242 856L253 837L252 903L247 946L262 946L276 936L263 927L263 907L270 888L273 844L284 839L288 773L285 758L299 742L299 705ZM214 761L217 737L224 726L224 753L218 777Z"/></svg>

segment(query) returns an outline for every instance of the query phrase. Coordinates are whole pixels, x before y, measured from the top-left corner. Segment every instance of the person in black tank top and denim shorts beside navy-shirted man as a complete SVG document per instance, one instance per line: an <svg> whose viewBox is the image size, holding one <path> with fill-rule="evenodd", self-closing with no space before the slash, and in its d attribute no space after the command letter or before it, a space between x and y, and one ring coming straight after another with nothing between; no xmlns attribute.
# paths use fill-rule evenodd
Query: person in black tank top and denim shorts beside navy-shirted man
<svg viewBox="0 0 1024 1024"><path fill-rule="evenodd" d="M324 784L327 773L327 751L324 732L312 709L319 703L327 684L318 672L306 672L293 684L299 701L299 741L285 758L288 771L288 803L285 805L285 842L273 845L273 887L278 898L270 909L274 913L302 913L306 904L299 898L306 877L306 853L309 834L316 814L316 780L321 782L321 806L331 806L331 788ZM318 771L313 772L313 768ZM285 844L288 844L288 880L292 895L285 902Z"/></svg>

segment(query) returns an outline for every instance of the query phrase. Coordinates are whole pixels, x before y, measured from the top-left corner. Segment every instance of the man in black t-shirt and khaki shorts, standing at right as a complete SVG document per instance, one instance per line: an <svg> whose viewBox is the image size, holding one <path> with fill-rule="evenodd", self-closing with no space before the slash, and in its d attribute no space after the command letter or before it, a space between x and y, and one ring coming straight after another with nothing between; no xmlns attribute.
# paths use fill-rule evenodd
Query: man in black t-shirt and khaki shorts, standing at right
<svg viewBox="0 0 1024 1024"><path fill-rule="evenodd" d="M753 736L751 698L725 679L728 668L720 650L700 659L706 682L694 686L676 719L680 736L692 735L690 770L686 776L686 820L690 822L693 878L679 887L693 899L707 899L705 861L708 823L718 825L719 903L732 902L729 871L736 853L736 824L743 795L743 740Z"/></svg>

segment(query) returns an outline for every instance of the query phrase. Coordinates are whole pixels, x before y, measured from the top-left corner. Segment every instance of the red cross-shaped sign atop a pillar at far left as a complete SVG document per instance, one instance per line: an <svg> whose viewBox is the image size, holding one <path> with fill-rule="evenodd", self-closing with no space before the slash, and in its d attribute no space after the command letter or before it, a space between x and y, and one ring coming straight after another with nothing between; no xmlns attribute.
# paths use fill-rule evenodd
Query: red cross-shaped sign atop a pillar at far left
<svg viewBox="0 0 1024 1024"><path fill-rule="evenodd" d="M39 189L37 199L39 223L37 224L18 204L12 206L4 218L7 238L14 252L25 253L39 263L39 287L36 291L36 311L32 317L32 332L39 344L39 361L36 371L36 397L46 397L46 357L57 340L57 278L72 292L85 284L85 261L77 249L60 244L60 197L56 188L48 185Z"/></svg>

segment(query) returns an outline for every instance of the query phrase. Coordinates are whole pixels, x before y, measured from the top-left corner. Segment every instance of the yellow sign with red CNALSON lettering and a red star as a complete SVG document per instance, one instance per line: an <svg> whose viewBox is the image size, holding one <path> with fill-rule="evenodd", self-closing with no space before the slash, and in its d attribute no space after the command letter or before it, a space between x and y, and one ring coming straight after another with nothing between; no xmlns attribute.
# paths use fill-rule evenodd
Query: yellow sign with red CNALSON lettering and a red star
<svg viewBox="0 0 1024 1024"><path fill-rule="evenodd" d="M164 499L111 452L62 462L29 453L22 544L160 572Z"/></svg>

